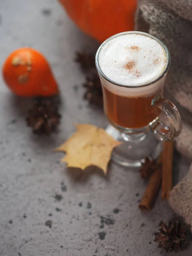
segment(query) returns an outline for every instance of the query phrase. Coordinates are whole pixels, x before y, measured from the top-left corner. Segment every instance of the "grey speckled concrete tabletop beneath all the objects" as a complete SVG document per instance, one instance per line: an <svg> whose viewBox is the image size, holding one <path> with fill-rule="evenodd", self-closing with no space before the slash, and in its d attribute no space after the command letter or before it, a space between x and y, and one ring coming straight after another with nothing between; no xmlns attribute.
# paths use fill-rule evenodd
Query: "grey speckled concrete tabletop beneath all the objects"
<svg viewBox="0 0 192 256"><path fill-rule="evenodd" d="M63 118L58 134L36 137L24 120L29 101L13 96L0 78L0 256L166 255L153 232L174 213L160 198L151 212L140 212L145 182L137 172L111 163L106 178L93 173L75 180L58 161L63 154L52 152L73 133L74 123L107 124L102 111L82 99L85 77L73 60L79 49L96 49L96 42L56 0L0 0L0 66L24 46L47 56L61 87ZM175 182L189 163L175 154ZM177 255L192 255L192 247Z"/></svg>

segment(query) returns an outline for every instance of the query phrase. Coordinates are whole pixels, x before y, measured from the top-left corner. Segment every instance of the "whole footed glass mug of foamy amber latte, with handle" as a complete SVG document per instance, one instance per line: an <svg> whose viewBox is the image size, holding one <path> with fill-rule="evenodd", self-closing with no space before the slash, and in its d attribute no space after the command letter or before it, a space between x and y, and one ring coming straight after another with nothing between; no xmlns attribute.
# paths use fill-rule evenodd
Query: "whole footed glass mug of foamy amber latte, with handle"
<svg viewBox="0 0 192 256"><path fill-rule="evenodd" d="M163 97L169 65L163 42L144 32L113 35L96 53L110 123L106 131L123 142L112 159L123 166L157 158L162 141L174 140L182 130L177 108Z"/></svg>

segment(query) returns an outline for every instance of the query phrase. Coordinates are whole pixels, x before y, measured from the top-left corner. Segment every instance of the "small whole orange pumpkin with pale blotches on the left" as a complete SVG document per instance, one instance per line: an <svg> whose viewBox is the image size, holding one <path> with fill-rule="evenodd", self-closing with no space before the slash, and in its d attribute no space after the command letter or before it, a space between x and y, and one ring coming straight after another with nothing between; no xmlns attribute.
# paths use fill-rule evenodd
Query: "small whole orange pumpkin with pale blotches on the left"
<svg viewBox="0 0 192 256"><path fill-rule="evenodd" d="M12 52L3 64L3 78L19 96L52 96L58 93L50 66L41 52L24 47Z"/></svg>

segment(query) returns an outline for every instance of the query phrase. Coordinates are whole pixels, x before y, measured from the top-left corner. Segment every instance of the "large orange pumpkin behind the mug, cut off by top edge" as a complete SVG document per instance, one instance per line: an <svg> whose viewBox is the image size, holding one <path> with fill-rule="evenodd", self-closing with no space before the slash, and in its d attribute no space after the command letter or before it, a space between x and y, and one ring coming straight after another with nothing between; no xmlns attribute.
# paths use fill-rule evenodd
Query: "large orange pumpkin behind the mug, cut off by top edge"
<svg viewBox="0 0 192 256"><path fill-rule="evenodd" d="M137 0L59 0L86 34L100 42L111 35L134 30Z"/></svg>

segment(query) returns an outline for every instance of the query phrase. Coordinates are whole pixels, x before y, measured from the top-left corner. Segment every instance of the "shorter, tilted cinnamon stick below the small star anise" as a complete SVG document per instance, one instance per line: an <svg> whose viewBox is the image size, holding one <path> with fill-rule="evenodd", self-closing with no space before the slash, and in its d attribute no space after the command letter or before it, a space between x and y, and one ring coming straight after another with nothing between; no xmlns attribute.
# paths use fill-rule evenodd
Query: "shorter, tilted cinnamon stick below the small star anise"
<svg viewBox="0 0 192 256"><path fill-rule="evenodd" d="M139 204L139 208L141 210L150 210L153 207L154 200L157 196L157 193L160 188L161 183L161 165L158 165L158 168L154 173L151 175L148 186L145 190L143 198Z"/></svg>

